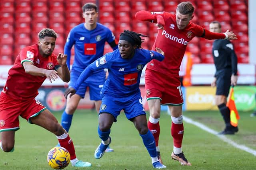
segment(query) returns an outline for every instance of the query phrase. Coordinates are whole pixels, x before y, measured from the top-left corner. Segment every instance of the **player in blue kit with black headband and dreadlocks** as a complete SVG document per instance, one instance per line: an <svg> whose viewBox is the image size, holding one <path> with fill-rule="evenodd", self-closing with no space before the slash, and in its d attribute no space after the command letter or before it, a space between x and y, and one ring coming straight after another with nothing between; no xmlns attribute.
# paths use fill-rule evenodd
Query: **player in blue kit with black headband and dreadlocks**
<svg viewBox="0 0 256 170"><path fill-rule="evenodd" d="M80 75L76 84L65 91L65 97L74 95L79 86L93 72L108 69L108 78L100 92L102 104L99 113L98 134L102 142L95 150L94 157L100 159L108 145L111 143L110 128L116 122L121 110L132 121L142 137L147 148L154 168L166 168L157 158L156 145L152 133L147 127L146 112L142 105L140 94L140 76L146 63L152 59L162 61L164 52L156 48L149 51L141 48L145 35L133 31L124 31L120 34L118 50L107 53L100 59L90 64Z"/></svg>

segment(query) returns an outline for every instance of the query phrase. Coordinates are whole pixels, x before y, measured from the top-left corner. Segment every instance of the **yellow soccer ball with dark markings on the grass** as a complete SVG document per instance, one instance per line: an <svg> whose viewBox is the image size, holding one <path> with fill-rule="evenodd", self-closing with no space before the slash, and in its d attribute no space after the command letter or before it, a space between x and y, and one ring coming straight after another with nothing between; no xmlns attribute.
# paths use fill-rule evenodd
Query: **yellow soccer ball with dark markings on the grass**
<svg viewBox="0 0 256 170"><path fill-rule="evenodd" d="M63 147L54 147L48 152L47 162L54 169L66 168L70 162L70 154Z"/></svg>

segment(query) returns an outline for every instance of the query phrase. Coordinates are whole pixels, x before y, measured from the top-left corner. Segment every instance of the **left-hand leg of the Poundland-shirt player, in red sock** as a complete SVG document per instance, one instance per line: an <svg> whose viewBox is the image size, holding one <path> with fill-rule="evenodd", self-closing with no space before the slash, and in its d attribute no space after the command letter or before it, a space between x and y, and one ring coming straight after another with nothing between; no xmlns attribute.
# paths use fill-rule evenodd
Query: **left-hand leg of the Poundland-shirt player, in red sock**
<svg viewBox="0 0 256 170"><path fill-rule="evenodd" d="M148 100L148 107L150 110L150 117L148 119L148 129L154 136L154 139L156 141L156 151L157 151L157 157L160 163L162 164L162 158L160 154L160 149L158 146L159 136L160 136L160 110L161 110L161 103L160 99L152 99Z"/></svg>

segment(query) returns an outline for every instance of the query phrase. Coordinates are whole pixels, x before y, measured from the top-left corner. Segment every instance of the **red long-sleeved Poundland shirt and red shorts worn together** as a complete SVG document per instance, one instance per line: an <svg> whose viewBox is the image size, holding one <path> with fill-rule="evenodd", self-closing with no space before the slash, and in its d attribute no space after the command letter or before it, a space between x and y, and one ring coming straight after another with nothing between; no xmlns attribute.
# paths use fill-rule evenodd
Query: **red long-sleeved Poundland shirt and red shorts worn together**
<svg viewBox="0 0 256 170"><path fill-rule="evenodd" d="M181 105L183 96L180 86L179 70L182 58L189 41L194 37L204 36L203 27L193 22L189 22L185 29L178 29L176 15L168 12L140 11L136 18L142 21L152 21L157 23L157 16L164 19L163 29L158 30L158 34L152 50L156 47L164 51L164 61L152 60L147 64L145 75L145 88L147 99L160 99L162 105ZM212 34L207 31L207 39L225 38L223 33Z"/></svg>

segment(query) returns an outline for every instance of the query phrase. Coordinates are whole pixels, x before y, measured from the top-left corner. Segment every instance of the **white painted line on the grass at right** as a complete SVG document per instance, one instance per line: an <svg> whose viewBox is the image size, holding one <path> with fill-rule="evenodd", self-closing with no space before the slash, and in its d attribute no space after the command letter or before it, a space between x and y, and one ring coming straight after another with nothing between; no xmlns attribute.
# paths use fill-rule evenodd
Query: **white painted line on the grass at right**
<svg viewBox="0 0 256 170"><path fill-rule="evenodd" d="M190 123L192 125L196 125L197 127L199 127L200 129L206 131L206 132L209 132L209 133L212 133L213 135L216 135L218 138L220 138L222 141L232 145L233 147L235 148L238 148L238 149L241 149L241 150L244 150L246 152L249 152L251 154L253 154L254 156L256 156L256 150L254 149L250 149L244 145L239 145L237 143L235 143L234 141L228 139L227 137L225 137L224 135L218 135L217 131L214 131L213 129L210 129L209 127L207 127L206 125L203 125L202 123L199 123L197 121L194 121L193 119L190 119L186 116L183 115L183 120L187 123Z"/></svg>

